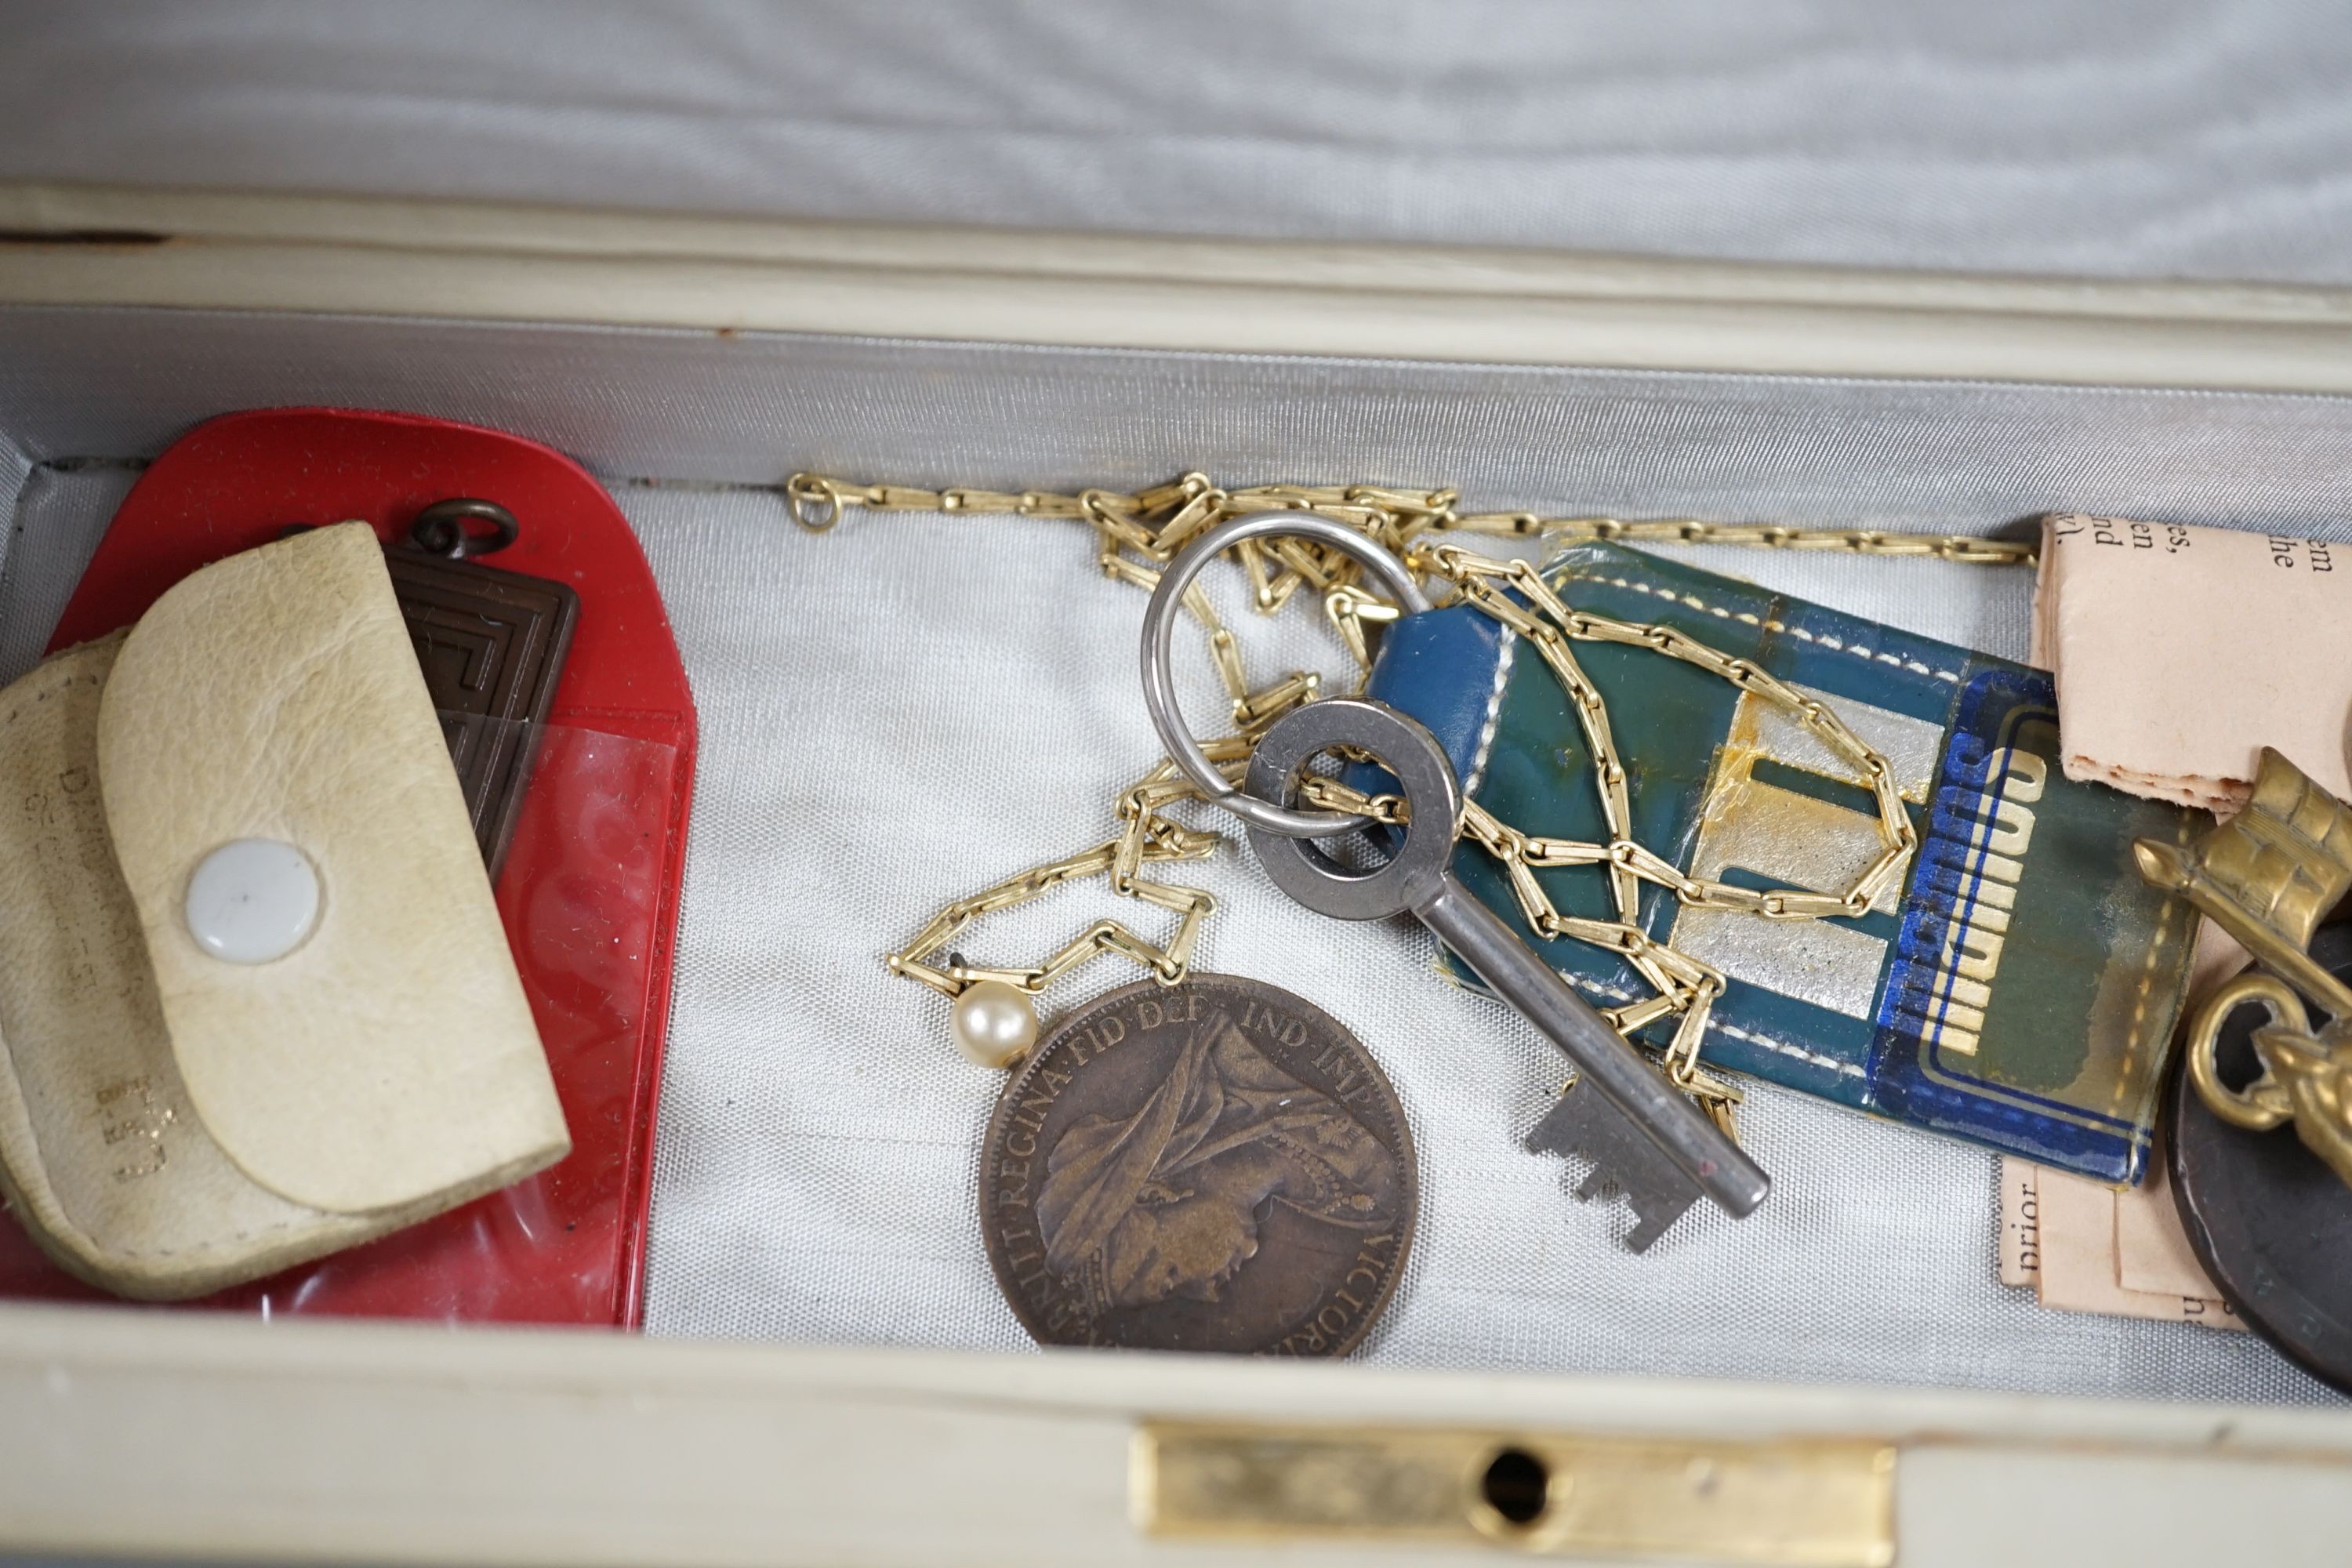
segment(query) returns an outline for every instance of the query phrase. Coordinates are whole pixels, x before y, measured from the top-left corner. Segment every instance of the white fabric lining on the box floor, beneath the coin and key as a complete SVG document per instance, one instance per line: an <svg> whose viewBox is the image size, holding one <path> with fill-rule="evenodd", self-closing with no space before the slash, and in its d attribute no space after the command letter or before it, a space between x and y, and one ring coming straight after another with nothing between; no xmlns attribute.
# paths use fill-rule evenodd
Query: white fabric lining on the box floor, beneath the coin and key
<svg viewBox="0 0 2352 1568"><path fill-rule="evenodd" d="M1094 576L1068 524L870 517L809 538L769 496L623 503L703 710L649 1328L1021 1349L976 1225L1000 1079L964 1065L946 1004L887 976L882 952L938 903L1110 832L1108 799L1157 757L1129 651L1141 595ZM1924 581L1700 559L1846 609ZM1938 571L1950 592L1910 602L1910 625L2023 654L2027 574ZM1242 621L1254 668L1322 651L1287 630ZM1185 708L1207 724L1207 658L1185 656ZM1242 844L1197 870L1221 905L1202 961L1331 1011L1411 1117L1423 1218L1374 1361L2324 1396L2249 1335L2044 1312L2002 1288L1987 1154L1769 1086L1743 1128L1771 1201L1745 1222L1693 1211L1635 1258L1618 1206L1573 1201L1559 1161L1517 1147L1559 1086L1548 1044L1432 973L1416 929L1305 914ZM1105 912L1164 926L1080 884L960 945L1014 961ZM1131 973L1098 961L1049 1001Z"/></svg>

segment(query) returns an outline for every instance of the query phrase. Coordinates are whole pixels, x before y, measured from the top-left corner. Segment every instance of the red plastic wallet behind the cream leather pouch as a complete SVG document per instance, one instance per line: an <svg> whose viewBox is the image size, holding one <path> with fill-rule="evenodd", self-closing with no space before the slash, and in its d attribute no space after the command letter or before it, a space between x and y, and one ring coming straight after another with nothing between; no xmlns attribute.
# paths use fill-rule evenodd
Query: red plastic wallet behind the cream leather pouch
<svg viewBox="0 0 2352 1568"><path fill-rule="evenodd" d="M480 496L520 538L487 557L569 583L579 630L499 877L572 1154L503 1192L200 1307L635 1328L654 1110L694 792L694 698L637 536L579 463L501 430L268 409L207 421L139 480L49 646L136 621L198 567L289 524L365 520L388 543ZM101 1298L0 1227L0 1295Z"/></svg>

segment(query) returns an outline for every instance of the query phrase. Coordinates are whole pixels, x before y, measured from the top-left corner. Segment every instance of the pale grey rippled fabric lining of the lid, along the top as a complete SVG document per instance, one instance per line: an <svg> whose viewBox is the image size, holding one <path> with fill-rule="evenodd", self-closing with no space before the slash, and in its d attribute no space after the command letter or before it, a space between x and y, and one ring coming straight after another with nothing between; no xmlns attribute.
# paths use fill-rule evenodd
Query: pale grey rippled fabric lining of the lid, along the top
<svg viewBox="0 0 2352 1568"><path fill-rule="evenodd" d="M2352 282L2328 0L7 0L0 38L0 179Z"/></svg>

